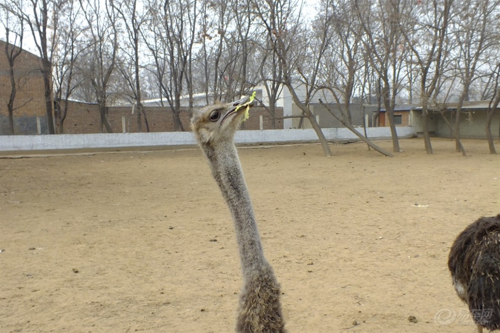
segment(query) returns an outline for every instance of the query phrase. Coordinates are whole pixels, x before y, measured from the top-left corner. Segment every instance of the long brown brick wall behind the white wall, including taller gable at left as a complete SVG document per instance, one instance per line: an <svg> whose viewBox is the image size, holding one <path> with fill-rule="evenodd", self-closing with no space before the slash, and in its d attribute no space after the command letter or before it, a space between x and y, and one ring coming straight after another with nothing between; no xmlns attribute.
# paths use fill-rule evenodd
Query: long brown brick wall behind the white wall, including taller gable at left
<svg viewBox="0 0 500 333"><path fill-rule="evenodd" d="M11 93L9 63L5 55L6 42L0 40L0 134L9 133L7 103ZM46 111L43 77L40 71L40 59L27 51L16 58L14 63L17 82L14 100L14 122L16 134L37 134L37 127L42 134L46 133ZM64 133L100 133L101 117L95 104L68 102L68 112L63 123ZM145 109L149 131L174 131L174 121L169 108L147 107ZM278 108L277 116L283 116L283 109ZM251 117L242 124L242 129L259 129L259 116L263 116L264 128L271 129L269 113L264 108L253 108ZM180 113L185 130L189 128L189 111ZM38 119L37 119L38 118ZM127 132L138 132L137 114L132 114L131 107L110 107L108 121L115 133L122 132L122 119L125 119ZM142 118L142 131L146 131ZM276 120L276 128L283 128L283 120ZM57 131L57 129L56 129ZM106 131L106 130L105 130Z"/></svg>

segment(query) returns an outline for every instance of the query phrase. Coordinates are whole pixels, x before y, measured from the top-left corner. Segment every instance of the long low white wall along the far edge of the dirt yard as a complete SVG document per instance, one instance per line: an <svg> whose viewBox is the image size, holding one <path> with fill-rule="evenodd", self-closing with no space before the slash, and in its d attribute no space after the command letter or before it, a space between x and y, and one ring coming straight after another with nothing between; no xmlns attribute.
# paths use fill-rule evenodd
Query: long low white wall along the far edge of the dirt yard
<svg viewBox="0 0 500 333"><path fill-rule="evenodd" d="M357 129L363 133L363 128ZM397 127L396 130L397 135L402 138L416 135L411 126ZM323 133L329 141L357 138L347 128L324 128ZM367 133L370 138L390 138L389 127L369 127ZM317 140L318 136L313 129L243 130L236 132L234 138L237 144L311 142ZM196 145L191 132L0 136L0 152L190 145Z"/></svg>

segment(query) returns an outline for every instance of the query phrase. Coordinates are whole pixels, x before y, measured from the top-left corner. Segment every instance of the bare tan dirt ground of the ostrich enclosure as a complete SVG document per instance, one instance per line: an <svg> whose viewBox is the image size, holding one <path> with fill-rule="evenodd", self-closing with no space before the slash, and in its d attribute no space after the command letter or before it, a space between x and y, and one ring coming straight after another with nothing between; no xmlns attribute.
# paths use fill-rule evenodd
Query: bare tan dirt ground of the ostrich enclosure
<svg viewBox="0 0 500 333"><path fill-rule="evenodd" d="M290 333L476 331L446 260L500 212L500 158L432 142L239 150ZM233 225L198 149L3 158L0 192L2 333L234 331Z"/></svg>

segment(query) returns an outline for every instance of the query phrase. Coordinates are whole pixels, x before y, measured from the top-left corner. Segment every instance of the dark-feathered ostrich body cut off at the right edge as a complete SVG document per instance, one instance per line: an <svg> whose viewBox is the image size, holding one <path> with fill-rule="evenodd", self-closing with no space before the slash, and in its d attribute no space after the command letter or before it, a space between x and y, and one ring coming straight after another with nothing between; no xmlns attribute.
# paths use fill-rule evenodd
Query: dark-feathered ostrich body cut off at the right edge
<svg viewBox="0 0 500 333"><path fill-rule="evenodd" d="M481 217L457 236L448 268L477 331L500 329L500 214Z"/></svg>

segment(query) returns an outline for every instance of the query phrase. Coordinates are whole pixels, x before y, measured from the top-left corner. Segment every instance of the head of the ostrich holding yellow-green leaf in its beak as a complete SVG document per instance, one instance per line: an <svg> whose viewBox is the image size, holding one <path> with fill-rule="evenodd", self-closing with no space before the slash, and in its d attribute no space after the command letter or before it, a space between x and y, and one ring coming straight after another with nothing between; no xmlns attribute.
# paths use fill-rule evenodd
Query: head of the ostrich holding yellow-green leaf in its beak
<svg viewBox="0 0 500 333"><path fill-rule="evenodd" d="M232 142L234 133L244 119L248 97L227 104L217 103L193 110L191 129L202 146L218 146L221 142ZM249 106L252 106L250 104Z"/></svg>

